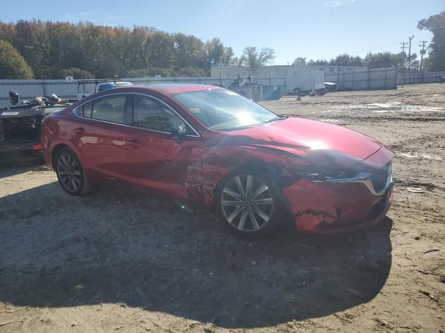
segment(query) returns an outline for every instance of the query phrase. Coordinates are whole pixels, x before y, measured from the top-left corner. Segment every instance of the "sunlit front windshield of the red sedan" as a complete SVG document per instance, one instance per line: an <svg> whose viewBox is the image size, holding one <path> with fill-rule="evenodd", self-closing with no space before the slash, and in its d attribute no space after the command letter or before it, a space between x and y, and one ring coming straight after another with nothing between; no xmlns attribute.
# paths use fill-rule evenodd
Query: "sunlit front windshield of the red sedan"
<svg viewBox="0 0 445 333"><path fill-rule="evenodd" d="M261 105L227 89L184 92L173 97L213 130L236 130L280 119Z"/></svg>

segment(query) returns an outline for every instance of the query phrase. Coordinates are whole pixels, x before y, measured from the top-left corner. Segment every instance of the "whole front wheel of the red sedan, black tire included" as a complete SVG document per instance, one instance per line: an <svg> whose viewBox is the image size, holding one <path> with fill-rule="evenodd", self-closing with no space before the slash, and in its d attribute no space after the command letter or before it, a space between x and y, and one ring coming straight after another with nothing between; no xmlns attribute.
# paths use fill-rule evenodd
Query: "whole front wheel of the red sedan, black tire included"
<svg viewBox="0 0 445 333"><path fill-rule="evenodd" d="M241 237L259 238L275 232L281 208L277 188L261 173L232 173L216 189L218 217Z"/></svg>

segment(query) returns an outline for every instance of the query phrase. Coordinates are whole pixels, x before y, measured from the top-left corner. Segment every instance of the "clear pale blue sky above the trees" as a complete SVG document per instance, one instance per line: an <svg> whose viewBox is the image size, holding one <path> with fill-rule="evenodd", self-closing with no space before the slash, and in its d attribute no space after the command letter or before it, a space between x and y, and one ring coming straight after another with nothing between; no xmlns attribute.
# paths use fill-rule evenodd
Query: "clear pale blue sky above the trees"
<svg viewBox="0 0 445 333"><path fill-rule="evenodd" d="M42 19L111 26L152 26L208 40L218 37L240 56L245 46L271 47L275 65L296 57L327 59L348 53L412 52L429 31L417 22L445 10L445 0L17 0L2 6L0 21Z"/></svg>

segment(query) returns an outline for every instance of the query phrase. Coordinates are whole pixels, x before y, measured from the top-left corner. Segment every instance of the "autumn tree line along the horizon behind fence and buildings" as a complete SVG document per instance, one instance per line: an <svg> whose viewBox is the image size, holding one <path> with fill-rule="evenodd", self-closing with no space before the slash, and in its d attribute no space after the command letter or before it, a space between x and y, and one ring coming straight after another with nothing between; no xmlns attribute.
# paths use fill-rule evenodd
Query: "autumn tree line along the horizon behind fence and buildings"
<svg viewBox="0 0 445 333"><path fill-rule="evenodd" d="M445 12L422 19L419 30L432 32L424 71L445 70ZM240 58L219 38L203 42L185 33L147 26L132 29L80 22L38 19L0 22L0 78L113 78L208 76L212 66L243 65L252 74L273 62L275 51L248 46ZM298 57L292 65L398 67L419 70L417 53L369 52L364 58L345 53L330 60Z"/></svg>

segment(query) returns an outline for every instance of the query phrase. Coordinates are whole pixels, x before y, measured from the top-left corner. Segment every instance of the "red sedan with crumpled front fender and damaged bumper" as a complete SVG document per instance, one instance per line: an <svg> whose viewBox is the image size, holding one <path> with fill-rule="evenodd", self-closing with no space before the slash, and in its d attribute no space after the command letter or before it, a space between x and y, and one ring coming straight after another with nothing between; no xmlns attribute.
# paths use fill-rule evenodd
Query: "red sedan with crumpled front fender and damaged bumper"
<svg viewBox="0 0 445 333"><path fill-rule="evenodd" d="M260 236L359 230L391 204L394 153L327 123L280 117L209 85L148 85L88 96L42 121L44 158L68 194L99 183L211 207Z"/></svg>

